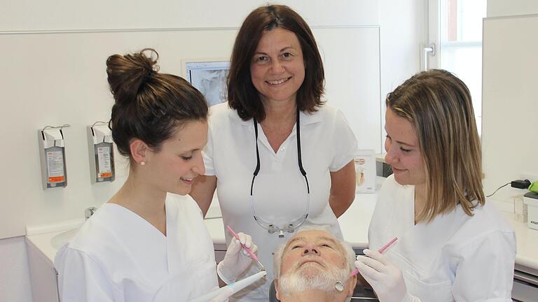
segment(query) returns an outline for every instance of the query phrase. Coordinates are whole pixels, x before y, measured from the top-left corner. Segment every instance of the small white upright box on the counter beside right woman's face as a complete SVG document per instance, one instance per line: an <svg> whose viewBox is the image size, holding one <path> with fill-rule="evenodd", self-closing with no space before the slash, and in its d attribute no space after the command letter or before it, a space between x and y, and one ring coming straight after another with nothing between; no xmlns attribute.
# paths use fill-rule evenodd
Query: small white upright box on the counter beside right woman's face
<svg viewBox="0 0 538 302"><path fill-rule="evenodd" d="M375 192L375 154L373 150L359 150L355 157L357 193Z"/></svg>

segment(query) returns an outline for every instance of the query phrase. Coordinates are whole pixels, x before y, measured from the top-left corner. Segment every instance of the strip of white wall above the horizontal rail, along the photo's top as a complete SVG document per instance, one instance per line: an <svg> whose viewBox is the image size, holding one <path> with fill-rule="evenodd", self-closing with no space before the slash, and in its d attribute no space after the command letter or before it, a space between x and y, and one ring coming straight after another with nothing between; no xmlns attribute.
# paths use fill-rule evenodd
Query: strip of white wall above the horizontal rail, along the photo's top
<svg viewBox="0 0 538 302"><path fill-rule="evenodd" d="M378 24L378 0L1 0L0 31L239 27L254 8L284 3L310 24Z"/></svg>

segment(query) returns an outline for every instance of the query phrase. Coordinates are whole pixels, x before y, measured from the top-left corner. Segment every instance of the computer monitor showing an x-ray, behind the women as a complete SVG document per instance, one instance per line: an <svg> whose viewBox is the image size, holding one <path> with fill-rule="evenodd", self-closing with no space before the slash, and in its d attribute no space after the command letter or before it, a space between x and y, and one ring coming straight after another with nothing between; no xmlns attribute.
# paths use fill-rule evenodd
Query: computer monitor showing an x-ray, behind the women
<svg viewBox="0 0 538 302"><path fill-rule="evenodd" d="M230 62L223 59L186 60L185 79L205 96L208 106L226 101Z"/></svg>

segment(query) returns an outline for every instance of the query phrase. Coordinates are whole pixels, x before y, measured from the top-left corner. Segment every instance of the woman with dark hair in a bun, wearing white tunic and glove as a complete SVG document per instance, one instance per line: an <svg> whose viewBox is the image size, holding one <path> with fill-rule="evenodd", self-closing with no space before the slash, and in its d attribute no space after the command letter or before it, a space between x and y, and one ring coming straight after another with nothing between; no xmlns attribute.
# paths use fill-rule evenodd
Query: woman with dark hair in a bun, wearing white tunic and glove
<svg viewBox="0 0 538 302"><path fill-rule="evenodd" d="M204 173L207 103L186 80L158 73L157 57L142 50L106 60L116 101L109 127L130 170L57 252L62 302L189 301L218 288L212 239L187 195ZM226 280L251 264L241 243L257 250L250 236L233 238L218 266Z"/></svg>

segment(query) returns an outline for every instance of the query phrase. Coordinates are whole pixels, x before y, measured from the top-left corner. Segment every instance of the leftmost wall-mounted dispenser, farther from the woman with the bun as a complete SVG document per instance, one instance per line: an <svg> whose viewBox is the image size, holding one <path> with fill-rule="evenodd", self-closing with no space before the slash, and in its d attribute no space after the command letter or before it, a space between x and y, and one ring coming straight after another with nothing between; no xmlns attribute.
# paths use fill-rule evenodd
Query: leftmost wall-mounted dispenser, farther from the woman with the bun
<svg viewBox="0 0 538 302"><path fill-rule="evenodd" d="M37 131L43 189L67 187L67 168L65 165L65 144L62 129L70 127L46 126Z"/></svg>

